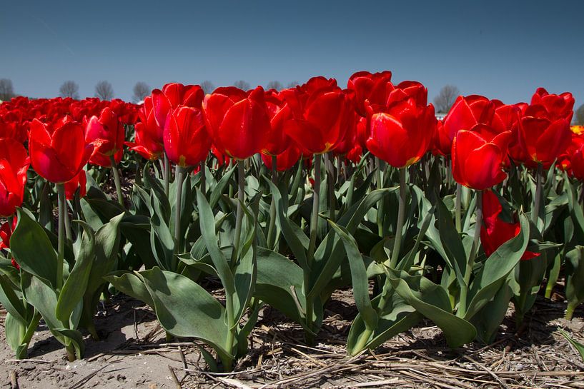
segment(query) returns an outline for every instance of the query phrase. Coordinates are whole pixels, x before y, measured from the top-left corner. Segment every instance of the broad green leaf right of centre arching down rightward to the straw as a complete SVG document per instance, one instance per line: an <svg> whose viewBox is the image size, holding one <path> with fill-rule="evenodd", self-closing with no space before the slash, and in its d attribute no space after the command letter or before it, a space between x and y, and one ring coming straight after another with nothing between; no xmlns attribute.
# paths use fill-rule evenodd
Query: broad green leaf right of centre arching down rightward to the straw
<svg viewBox="0 0 584 389"><path fill-rule="evenodd" d="M425 277L410 276L405 271L388 269L386 275L406 303L440 327L451 348L460 347L475 338L475 327L450 312L450 299L442 287Z"/></svg>

